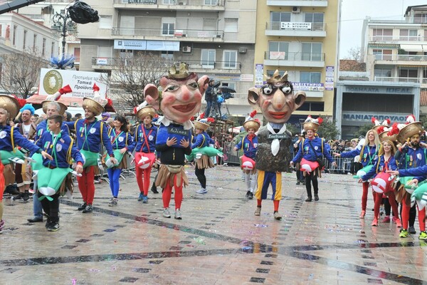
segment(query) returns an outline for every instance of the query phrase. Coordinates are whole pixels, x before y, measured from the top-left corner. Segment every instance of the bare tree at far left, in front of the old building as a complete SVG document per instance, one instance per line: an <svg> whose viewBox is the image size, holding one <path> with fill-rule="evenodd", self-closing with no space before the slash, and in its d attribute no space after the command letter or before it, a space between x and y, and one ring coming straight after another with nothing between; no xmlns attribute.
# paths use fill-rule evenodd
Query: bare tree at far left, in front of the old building
<svg viewBox="0 0 427 285"><path fill-rule="evenodd" d="M48 61L36 50L28 49L19 53L0 56L0 88L23 99L33 95L33 87L38 86L41 68L48 66Z"/></svg>

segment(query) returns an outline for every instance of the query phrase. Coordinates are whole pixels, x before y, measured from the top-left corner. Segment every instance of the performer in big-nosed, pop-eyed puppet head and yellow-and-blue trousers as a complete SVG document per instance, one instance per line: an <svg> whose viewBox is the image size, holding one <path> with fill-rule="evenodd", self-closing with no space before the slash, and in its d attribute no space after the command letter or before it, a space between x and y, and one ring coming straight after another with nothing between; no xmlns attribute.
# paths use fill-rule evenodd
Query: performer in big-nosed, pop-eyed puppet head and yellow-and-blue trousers
<svg viewBox="0 0 427 285"><path fill-rule="evenodd" d="M288 81L288 72L280 76L278 70L267 78L261 88L251 88L248 92L248 103L253 108L260 108L267 125L258 130L258 150L255 155L258 170L258 187L255 192L257 207L255 216L261 214L261 203L267 199L269 185L273 188L274 218L282 219L279 214L279 203L282 199L282 172L289 171L292 154L292 134L286 130L285 123L293 111L305 102L305 92L294 93Z"/></svg>

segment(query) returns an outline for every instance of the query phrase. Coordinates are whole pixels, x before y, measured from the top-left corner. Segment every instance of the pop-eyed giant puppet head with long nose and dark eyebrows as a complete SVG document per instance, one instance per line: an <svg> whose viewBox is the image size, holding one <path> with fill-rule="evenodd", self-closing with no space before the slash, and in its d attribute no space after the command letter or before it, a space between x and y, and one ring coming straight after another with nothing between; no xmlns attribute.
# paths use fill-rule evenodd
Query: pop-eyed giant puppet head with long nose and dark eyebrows
<svg viewBox="0 0 427 285"><path fill-rule="evenodd" d="M261 88L249 89L248 102L254 108L259 106L268 122L283 124L293 111L301 107L305 97L304 91L294 94L292 83L288 81L288 71L280 76L276 70Z"/></svg>

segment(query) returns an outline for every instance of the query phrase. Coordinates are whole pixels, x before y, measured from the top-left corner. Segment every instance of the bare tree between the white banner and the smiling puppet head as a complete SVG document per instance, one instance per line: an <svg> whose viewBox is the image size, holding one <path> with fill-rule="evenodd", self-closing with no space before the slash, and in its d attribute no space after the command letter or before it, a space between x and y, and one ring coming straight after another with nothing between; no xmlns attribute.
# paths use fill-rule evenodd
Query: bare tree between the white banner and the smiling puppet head
<svg viewBox="0 0 427 285"><path fill-rule="evenodd" d="M125 105L137 106L144 102L144 87L157 85L172 61L151 53L117 58L110 78L110 88L121 90L116 97Z"/></svg>

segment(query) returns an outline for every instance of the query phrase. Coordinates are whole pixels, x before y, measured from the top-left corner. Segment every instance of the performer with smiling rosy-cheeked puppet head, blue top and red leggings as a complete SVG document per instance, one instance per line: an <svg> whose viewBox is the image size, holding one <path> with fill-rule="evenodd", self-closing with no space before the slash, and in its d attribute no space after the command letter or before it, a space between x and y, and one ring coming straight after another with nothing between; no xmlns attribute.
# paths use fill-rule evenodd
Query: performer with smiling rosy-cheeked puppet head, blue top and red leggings
<svg viewBox="0 0 427 285"><path fill-rule="evenodd" d="M144 88L147 102L155 109L162 110L157 130L156 150L160 152L160 161L156 186L163 188L163 217L170 218L169 202L172 187L175 194L175 219L181 219L182 187L189 181L184 171L185 155L191 153L190 118L199 113L201 96L206 90L209 78L199 78L189 73L186 63L172 66L169 73L160 79L162 95L153 84Z"/></svg>

